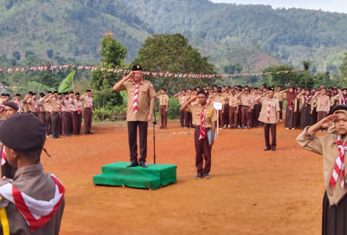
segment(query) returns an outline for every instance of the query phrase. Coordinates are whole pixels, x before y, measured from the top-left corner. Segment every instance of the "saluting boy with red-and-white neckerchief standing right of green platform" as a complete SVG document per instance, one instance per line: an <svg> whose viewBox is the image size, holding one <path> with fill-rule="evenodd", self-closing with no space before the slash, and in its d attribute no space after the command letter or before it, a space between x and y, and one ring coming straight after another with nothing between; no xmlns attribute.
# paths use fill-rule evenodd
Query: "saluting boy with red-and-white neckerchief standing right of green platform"
<svg viewBox="0 0 347 235"><path fill-rule="evenodd" d="M194 101L196 96L191 97L187 103L180 107L180 111L190 112L193 117L195 143L195 165L197 174L195 179L210 179L211 170L211 149L214 143L214 129L217 122L217 114L214 108L207 103L208 92L201 90L198 92L198 104L188 106ZM208 132L211 131L211 135ZM210 140L208 136L211 136ZM203 159L205 166L203 167Z"/></svg>

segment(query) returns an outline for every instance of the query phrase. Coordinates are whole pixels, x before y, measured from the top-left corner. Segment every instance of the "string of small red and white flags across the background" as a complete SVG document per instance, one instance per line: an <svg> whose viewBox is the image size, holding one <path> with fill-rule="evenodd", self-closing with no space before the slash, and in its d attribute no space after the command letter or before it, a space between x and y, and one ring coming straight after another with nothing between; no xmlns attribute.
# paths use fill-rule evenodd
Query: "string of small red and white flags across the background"
<svg viewBox="0 0 347 235"><path fill-rule="evenodd" d="M123 74L128 74L130 73L131 70L121 70L117 68L105 68L105 67L94 67L94 66L85 66L85 65L52 65L52 66L37 66L37 67L29 67L28 69L26 67L11 67L8 69L3 69L0 68L0 72L17 72L17 71L43 71L43 70L62 70L62 69L67 69L67 68L74 68L76 67L77 70L101 70L107 71L107 72L114 72L114 73L123 73ZM304 69L297 69L297 70L285 70L285 71L278 71L276 74L280 73L289 73L289 72L301 72L305 71ZM194 79L205 79L205 78L212 78L212 77L217 77L217 76L259 76L259 75L267 75L267 74L272 74L272 72L258 72L258 73L242 73L242 74L183 74L183 73L171 73L171 72L148 72L148 71L143 71L142 72L145 75L151 75L151 76L161 76L161 77L168 77L168 76L173 76L173 77L179 77L179 78L194 78Z"/></svg>

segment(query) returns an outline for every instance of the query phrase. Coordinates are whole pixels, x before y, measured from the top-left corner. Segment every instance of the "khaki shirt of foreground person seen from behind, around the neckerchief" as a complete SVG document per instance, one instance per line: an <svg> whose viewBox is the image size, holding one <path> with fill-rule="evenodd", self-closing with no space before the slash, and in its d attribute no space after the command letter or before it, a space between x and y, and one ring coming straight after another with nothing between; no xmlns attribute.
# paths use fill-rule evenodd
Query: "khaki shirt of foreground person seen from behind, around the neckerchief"
<svg viewBox="0 0 347 235"><path fill-rule="evenodd" d="M0 186L7 184L9 181L10 179L1 179ZM11 184L15 186L18 191L25 193L29 197L46 202L49 202L56 192L56 183L49 174L44 173L42 163L17 169ZM62 200L53 217L42 227L38 227L31 233L26 220L22 214L19 213L17 206L2 195L0 200L0 209L5 208L6 210L10 234L59 234L64 206L65 199ZM2 230L2 224L0 223L0 231Z"/></svg>

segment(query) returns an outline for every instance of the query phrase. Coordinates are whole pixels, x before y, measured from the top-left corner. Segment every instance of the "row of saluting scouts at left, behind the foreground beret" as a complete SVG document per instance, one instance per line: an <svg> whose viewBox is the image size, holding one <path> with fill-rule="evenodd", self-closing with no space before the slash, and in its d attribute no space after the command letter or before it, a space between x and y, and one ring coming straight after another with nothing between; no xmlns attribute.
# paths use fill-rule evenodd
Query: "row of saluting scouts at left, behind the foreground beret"
<svg viewBox="0 0 347 235"><path fill-rule="evenodd" d="M6 106L5 104L10 104ZM92 134L93 99L91 90L84 95L79 92L58 91L40 93L28 92L24 99L16 94L10 101L9 94L1 94L0 119L5 119L6 110L16 110L17 113L32 113L46 124L46 136L60 138L62 136L81 135L82 118L85 134Z"/></svg>

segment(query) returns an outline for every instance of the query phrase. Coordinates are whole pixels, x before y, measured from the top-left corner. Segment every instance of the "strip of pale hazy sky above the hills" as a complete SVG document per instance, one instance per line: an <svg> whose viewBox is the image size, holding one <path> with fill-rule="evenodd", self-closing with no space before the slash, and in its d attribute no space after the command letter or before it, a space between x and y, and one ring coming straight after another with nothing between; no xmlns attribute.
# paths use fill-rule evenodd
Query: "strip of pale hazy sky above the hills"
<svg viewBox="0 0 347 235"><path fill-rule="evenodd" d="M210 0L214 3L237 3L237 4L262 4L271 5L272 8L304 8L347 13L346 0Z"/></svg>

